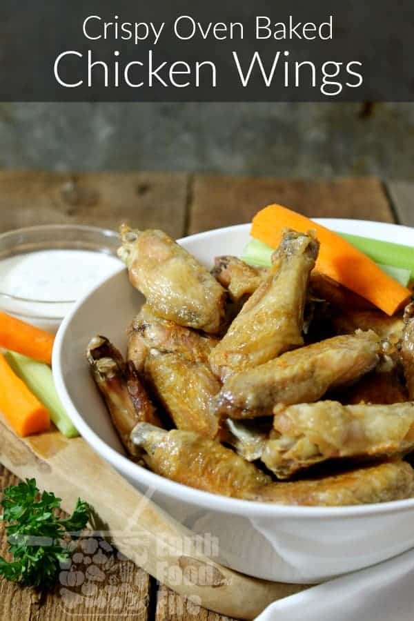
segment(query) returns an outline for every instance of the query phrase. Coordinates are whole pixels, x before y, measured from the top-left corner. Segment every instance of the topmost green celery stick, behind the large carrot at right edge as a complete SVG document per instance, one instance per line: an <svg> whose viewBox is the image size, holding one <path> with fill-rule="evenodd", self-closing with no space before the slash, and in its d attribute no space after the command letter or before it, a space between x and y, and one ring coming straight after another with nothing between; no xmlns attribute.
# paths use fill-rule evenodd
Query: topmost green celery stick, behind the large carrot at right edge
<svg viewBox="0 0 414 621"><path fill-rule="evenodd" d="M338 235L376 263L411 270L411 277L414 278L414 247L382 242L380 239L368 239L368 237L359 237L359 235L349 233L338 233Z"/></svg>

